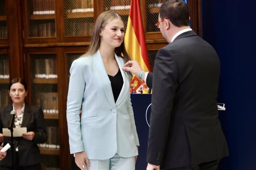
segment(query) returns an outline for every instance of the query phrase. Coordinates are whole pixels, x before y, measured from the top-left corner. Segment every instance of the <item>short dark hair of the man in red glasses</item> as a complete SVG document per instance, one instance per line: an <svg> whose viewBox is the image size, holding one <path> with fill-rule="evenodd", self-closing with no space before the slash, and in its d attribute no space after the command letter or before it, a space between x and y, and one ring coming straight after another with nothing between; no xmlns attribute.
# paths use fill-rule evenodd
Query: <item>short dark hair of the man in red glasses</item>
<svg viewBox="0 0 256 170"><path fill-rule="evenodd" d="M160 18L169 18L176 27L189 26L189 9L183 0L167 0L160 7Z"/></svg>

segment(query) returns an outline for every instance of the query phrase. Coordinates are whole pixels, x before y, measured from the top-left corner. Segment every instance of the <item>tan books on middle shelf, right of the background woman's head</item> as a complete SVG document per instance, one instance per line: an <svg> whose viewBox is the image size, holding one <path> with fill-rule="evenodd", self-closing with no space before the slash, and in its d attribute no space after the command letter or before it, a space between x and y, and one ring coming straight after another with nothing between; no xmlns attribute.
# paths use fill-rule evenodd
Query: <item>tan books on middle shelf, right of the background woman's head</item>
<svg viewBox="0 0 256 170"><path fill-rule="evenodd" d="M43 110L48 110L48 113L50 113L50 110L52 113L59 113L58 109L58 93L56 92L38 92L35 95L35 105L40 106Z"/></svg>

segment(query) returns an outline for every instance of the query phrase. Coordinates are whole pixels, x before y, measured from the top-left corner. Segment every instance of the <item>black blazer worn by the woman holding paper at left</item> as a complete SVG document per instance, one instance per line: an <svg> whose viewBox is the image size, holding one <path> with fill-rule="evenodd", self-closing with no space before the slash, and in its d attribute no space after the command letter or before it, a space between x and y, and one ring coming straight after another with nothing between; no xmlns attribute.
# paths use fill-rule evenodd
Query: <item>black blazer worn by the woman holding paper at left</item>
<svg viewBox="0 0 256 170"><path fill-rule="evenodd" d="M8 128L10 120L10 112L12 111L12 104L0 108L0 133L3 133L3 128ZM27 127L27 132L33 131L35 138L30 141L23 137L14 137L15 148L18 146L19 165L30 166L41 162L41 156L37 143L44 143L46 141L45 121L43 119L43 111L37 106L30 106L25 103L23 113L23 120L21 127ZM4 145L11 143L11 137L4 138ZM2 166L12 166L11 150L7 150L6 157L0 161Z"/></svg>

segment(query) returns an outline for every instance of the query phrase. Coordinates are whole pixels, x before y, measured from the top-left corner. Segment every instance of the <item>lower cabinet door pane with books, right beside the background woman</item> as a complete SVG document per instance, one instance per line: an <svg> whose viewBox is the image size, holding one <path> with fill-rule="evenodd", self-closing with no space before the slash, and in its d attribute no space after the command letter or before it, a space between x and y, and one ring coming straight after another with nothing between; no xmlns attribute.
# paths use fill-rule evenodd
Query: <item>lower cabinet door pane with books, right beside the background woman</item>
<svg viewBox="0 0 256 170"><path fill-rule="evenodd" d="M58 82L56 54L30 54L31 104L43 109L47 141L39 144L42 169L59 169Z"/></svg>

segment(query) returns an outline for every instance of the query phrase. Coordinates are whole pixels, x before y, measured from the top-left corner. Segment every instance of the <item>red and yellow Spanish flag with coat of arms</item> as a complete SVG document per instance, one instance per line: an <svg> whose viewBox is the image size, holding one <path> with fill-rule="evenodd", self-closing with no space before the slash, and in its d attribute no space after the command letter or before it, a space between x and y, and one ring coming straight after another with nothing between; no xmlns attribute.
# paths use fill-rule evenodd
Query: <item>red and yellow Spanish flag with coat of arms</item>
<svg viewBox="0 0 256 170"><path fill-rule="evenodd" d="M139 0L131 0L131 8L124 40L127 51L132 59L138 61L144 71L150 72L150 62L148 59L148 50L141 19ZM143 91L145 93L146 89L148 88L143 80L137 76L132 77L131 93L143 93Z"/></svg>

